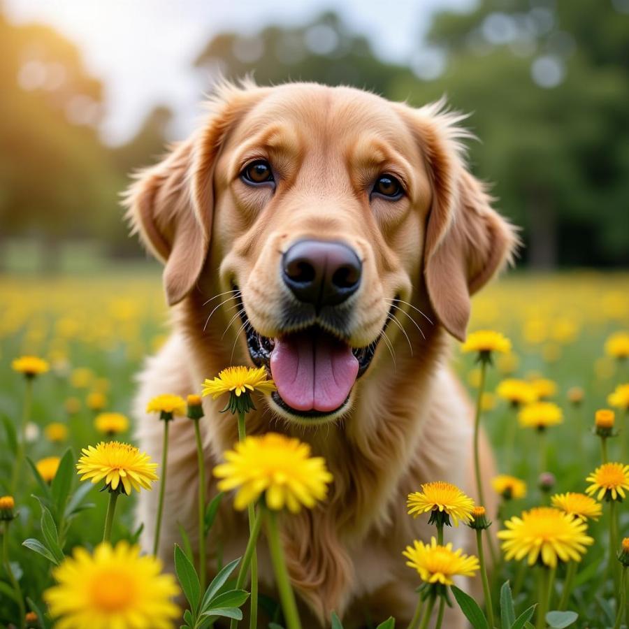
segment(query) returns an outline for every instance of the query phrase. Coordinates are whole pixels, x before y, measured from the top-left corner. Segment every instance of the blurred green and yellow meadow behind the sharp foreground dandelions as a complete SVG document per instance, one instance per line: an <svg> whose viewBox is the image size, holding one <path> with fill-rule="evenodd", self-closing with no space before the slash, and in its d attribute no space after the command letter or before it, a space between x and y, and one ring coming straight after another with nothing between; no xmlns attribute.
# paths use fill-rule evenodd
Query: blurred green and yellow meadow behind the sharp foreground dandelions
<svg viewBox="0 0 629 629"><path fill-rule="evenodd" d="M101 435L93 426L102 406L122 413L129 411L133 374L143 356L153 352L167 334L166 309L154 273L97 273L89 277L35 278L31 275L0 277L0 495L9 489L13 465L10 428L22 413L24 381L11 369L11 361L22 354L37 354L50 361L50 373L36 379L31 425L27 428L27 456L33 461L62 456L68 447L78 453L96 444ZM552 493L584 491L585 477L600 464L600 444L592 434L595 410L607 406L607 396L621 382L629 382L629 362L605 354L605 340L617 331L629 330L629 275L594 272L563 275L514 275L500 280L475 298L470 330L491 328L512 340L513 353L499 356L489 368L484 398L483 423L498 453L500 471L528 484L521 500L506 503L500 514L507 518L523 509L547 502L537 489L540 472L535 431L518 428L517 449L510 468L504 444L513 411L496 396L498 382L505 377L544 377L556 384L550 398L563 409L563 424L547 434L549 454L546 469L553 472ZM454 364L463 382L475 395L478 368L472 354L454 352ZM583 403L574 405L568 391L579 387ZM94 392L99 396L91 396ZM96 404L99 402L99 404ZM90 403L92 408L90 408ZM621 422L629 421L621 412ZM46 426L64 424L68 434L60 441L47 437ZM130 434L122 435L130 439ZM626 430L611 440L611 460L620 460ZM626 450L627 451L627 450ZM73 483L78 485L78 479ZM43 610L42 592L52 583L50 563L22 547L28 537L41 538L38 503L32 493L41 493L29 468L24 466L15 495L17 519L11 523L8 556L20 587L36 607ZM419 489L419 488L418 488ZM85 509L71 522L64 548L93 547L102 535L106 498L91 491ZM113 537L133 537L131 504L126 499L115 523ZM620 504L621 537L629 535L629 502ZM494 526L497 526L495 523ZM614 590L606 579L608 535L607 507L598 522L589 523L588 534L595 544L579 567L569 609L578 612L574 626L603 628L614 625ZM409 540L410 541L410 540ZM400 561L401 558L400 558ZM556 596L561 593L565 570L556 574ZM417 575L409 572L409 579ZM535 602L535 572L522 572L514 562L500 567L493 579L494 600L505 579L523 582L515 596L522 611ZM17 606L9 595L6 568L0 571L0 626L15 621Z"/></svg>

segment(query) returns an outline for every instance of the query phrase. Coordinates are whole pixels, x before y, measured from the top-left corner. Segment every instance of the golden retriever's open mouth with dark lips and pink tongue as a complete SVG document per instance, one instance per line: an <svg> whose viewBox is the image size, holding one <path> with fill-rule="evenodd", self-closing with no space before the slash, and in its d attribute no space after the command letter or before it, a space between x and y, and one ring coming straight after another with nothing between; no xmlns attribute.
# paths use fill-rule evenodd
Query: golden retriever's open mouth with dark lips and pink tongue
<svg viewBox="0 0 629 629"><path fill-rule="evenodd" d="M340 412L349 402L356 379L373 361L389 317L381 333L366 347L351 347L340 335L317 324L268 338L254 329L237 295L251 359L257 367L266 367L277 386L273 401L289 414L304 419ZM396 298L391 310L397 302Z"/></svg>

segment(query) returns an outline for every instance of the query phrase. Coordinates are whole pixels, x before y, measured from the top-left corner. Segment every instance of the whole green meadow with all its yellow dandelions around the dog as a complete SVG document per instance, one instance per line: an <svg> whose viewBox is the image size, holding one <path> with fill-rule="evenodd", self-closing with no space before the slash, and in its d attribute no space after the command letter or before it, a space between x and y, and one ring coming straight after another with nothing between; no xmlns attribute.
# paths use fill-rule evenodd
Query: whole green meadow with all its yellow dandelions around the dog
<svg viewBox="0 0 629 629"><path fill-rule="evenodd" d="M135 547L133 502L139 491L159 491L163 466L135 448L98 444L133 443L133 375L168 333L160 286L141 273L0 278L1 627L197 629L220 616L235 626L241 609L254 612L248 575L254 581L255 539L264 534L280 593L272 624L300 626L277 514L325 504L333 479L296 440L245 438L247 400L272 390L261 374L208 374L196 391L223 395L241 423L243 442L215 475L236 508L248 509L243 559L227 557L234 561L208 586L185 537L173 549L176 579ZM439 624L451 604L475 629L628 627L629 275L503 278L474 300L470 331L481 330L497 334L470 335L452 361L496 451L500 510L484 512L441 479L409 496L410 516L435 524L432 540L400 548L408 579L421 586L412 626ZM208 421L200 409L198 396L160 396L150 408L165 430L177 414L198 428ZM198 523L209 535L212 498ZM457 522L475 529L480 553L443 544L444 526ZM497 530L499 540L487 534ZM474 602L455 576L459 585L482 581L486 600ZM185 616L179 591L191 608Z"/></svg>

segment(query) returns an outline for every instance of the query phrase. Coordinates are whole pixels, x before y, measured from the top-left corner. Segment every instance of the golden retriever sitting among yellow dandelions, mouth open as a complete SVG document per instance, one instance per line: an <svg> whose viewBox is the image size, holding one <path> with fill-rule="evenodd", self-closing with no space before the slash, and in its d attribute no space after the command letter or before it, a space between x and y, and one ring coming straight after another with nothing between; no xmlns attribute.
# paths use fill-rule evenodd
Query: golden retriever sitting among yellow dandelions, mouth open
<svg viewBox="0 0 629 629"><path fill-rule="evenodd" d="M308 442L334 477L323 505L283 519L307 627L328 626L333 610L348 629L410 621L419 579L401 553L434 529L407 515L407 494L446 480L474 495L472 408L447 366L449 338L465 338L470 296L517 239L466 166L463 120L442 101L412 108L350 87L223 82L198 131L126 193L133 231L164 263L172 315L139 375L140 448L161 458L150 398L198 393L231 364L266 366L277 392L256 397L248 433ZM224 402L203 401L208 472L238 439ZM198 542L193 428L171 424L159 546L170 570L178 525ZM488 479L486 443L482 460ZM156 512L157 491L142 492L137 521ZM247 537L226 497L209 573L217 554L243 554ZM446 539L474 551L465 526ZM141 544L152 549L152 526ZM273 595L263 542L259 573ZM463 626L449 613L446 626Z"/></svg>

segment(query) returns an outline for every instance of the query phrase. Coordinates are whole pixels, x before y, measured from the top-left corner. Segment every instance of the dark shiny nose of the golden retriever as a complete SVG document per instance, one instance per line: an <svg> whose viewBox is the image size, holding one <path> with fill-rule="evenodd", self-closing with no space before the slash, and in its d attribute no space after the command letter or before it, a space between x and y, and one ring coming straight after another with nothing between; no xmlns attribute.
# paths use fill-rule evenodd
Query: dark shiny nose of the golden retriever
<svg viewBox="0 0 629 629"><path fill-rule="evenodd" d="M361 284L362 264L347 245L299 240L282 256L284 284L299 301L317 308L337 305Z"/></svg>

